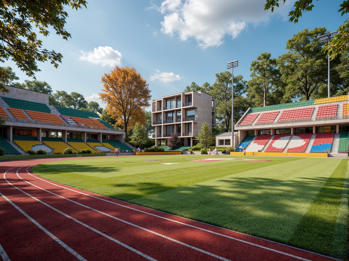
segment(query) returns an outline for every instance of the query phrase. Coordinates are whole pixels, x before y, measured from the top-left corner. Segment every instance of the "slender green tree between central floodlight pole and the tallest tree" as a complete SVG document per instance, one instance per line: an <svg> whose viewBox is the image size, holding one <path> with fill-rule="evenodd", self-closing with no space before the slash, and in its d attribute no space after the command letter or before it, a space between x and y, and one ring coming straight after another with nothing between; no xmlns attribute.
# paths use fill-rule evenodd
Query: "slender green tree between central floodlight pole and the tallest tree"
<svg viewBox="0 0 349 261"><path fill-rule="evenodd" d="M277 60L264 52L251 62L251 80L248 81L247 96L252 98L255 107L271 105L269 97L280 86L280 70ZM268 98L268 102L267 102Z"/></svg>

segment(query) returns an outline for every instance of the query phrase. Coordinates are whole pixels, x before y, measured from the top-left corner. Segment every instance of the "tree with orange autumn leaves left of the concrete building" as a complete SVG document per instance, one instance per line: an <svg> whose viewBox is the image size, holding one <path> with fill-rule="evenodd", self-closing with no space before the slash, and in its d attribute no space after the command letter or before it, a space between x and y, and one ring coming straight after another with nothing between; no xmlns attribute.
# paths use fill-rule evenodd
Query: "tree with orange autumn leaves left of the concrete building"
<svg viewBox="0 0 349 261"><path fill-rule="evenodd" d="M124 125L125 139L128 139L127 127L133 127L136 122L146 123L144 109L150 100L149 83L142 78L134 67L116 66L109 74L102 76L104 89L99 94L106 111L117 120L116 124Z"/></svg>

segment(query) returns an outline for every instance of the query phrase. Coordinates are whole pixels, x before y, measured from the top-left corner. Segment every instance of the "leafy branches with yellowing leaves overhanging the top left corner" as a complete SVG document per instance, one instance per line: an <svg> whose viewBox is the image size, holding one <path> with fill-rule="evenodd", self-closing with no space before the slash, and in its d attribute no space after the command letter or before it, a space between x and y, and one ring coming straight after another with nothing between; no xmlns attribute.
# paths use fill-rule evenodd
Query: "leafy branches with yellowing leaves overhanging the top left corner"
<svg viewBox="0 0 349 261"><path fill-rule="evenodd" d="M55 68L62 54L44 49L43 41L33 31L33 25L42 36L49 36L48 28L67 40L70 33L64 29L68 13L65 6L73 9L86 7L85 0L22 1L4 0L0 4L0 62L13 60L17 67L36 80L40 71L37 62L51 61ZM0 82L7 82L9 75L0 70ZM8 90L0 85L0 91Z"/></svg>

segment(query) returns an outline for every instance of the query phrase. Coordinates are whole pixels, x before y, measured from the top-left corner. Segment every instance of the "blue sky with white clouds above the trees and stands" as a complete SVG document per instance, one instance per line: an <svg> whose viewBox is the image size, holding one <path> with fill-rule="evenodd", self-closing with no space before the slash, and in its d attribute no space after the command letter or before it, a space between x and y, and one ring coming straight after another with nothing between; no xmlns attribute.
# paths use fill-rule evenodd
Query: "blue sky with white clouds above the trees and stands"
<svg viewBox="0 0 349 261"><path fill-rule="evenodd" d="M342 2L314 1L312 12L295 24L288 22L290 0L274 13L264 10L264 0L89 0L87 9L67 9L71 39L52 30L42 38L44 48L64 58L58 69L39 63L36 78L102 107L101 76L116 65L134 66L149 83L152 99L181 92L193 81L212 84L233 60L239 61L234 75L249 80L251 61L263 52L275 58L287 52L293 34L314 27L336 31L347 18L337 13ZM19 82L32 80L12 61L5 66L14 69Z"/></svg>

